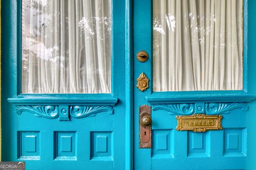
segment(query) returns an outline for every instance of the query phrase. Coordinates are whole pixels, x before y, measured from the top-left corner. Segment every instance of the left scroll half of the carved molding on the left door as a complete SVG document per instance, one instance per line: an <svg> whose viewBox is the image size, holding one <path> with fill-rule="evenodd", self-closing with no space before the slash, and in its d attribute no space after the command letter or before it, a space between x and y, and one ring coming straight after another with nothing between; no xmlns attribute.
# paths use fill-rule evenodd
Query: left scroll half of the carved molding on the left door
<svg viewBox="0 0 256 170"><path fill-rule="evenodd" d="M16 112L18 115L29 112L37 117L53 119L59 117L59 106L17 106Z"/></svg>

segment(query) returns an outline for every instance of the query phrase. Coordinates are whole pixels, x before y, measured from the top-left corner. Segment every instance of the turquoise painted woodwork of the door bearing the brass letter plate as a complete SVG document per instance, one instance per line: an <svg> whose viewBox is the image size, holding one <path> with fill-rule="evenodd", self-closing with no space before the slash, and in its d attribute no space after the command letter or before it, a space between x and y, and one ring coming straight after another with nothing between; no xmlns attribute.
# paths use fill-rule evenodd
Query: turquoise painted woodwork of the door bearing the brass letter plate
<svg viewBox="0 0 256 170"><path fill-rule="evenodd" d="M150 3L151 2L151 3ZM182 18L186 18L186 15L193 18L193 13L186 13L185 7L182 6L181 10L184 12L180 18L175 18L173 9L178 8L179 2L185 3L187 1L143 1L135 0L133 3L133 42L134 42L134 79L133 79L133 91L134 91L134 168L135 169L250 169L247 157L247 151L250 152L250 148L247 150L247 137L250 134L247 130L250 126L248 124L248 116L253 114L251 109L253 104L250 103L253 96L250 98L250 94L254 93L253 88L250 88L249 84L255 83L254 80L247 79L247 66L248 74L253 68L250 68L249 63L244 63L244 86L242 90L237 91L171 91L165 90L164 92L155 92L154 90L157 83L154 83L154 77L159 77L164 72L164 67L160 67L160 71L155 72L155 58L158 56L158 51L154 51L157 44L155 32L161 34L161 37L166 35L170 36L171 31L165 32L165 30L175 30L175 26L179 27L179 22ZM154 3L155 2L155 3ZM169 2L169 3L167 3ZM175 3L174 3L175 2ZM188 1L189 2L189 1ZM191 4L194 1L190 1ZM202 2L202 1L201 1ZM205 1L206 2L206 1ZM212 1L213 2L213 1ZM216 1L217 2L217 1ZM221 2L221 1L220 1ZM238 2L238 1L236 1ZM199 1L198 1L199 3ZM156 18L153 14L154 5L161 6L162 10L166 13L162 18L159 16ZM176 4L176 5L175 5ZM189 4L189 5L191 5ZM248 5L255 9L255 3L253 1L244 1L244 49L246 51L247 36L254 35L250 32L247 35L247 22L252 21L246 18L247 13L252 16L255 15L253 11L248 11ZM191 7L191 6L190 6ZM198 6L197 6L198 7ZM197 8L198 10L198 8ZM175 11L175 10L174 10ZM255 11L255 10L254 10ZM160 13L160 11L158 11ZM195 18L199 18L199 14ZM165 23L163 25L161 23ZM190 23L190 19L187 19ZM191 19L193 20L193 19ZM218 19L217 19L218 20ZM176 23L175 23L176 22ZM193 27L193 21L189 27ZM182 27L185 27L185 23L181 23ZM197 26L199 27L199 26ZM250 29L249 24L249 29ZM189 30L189 28L185 28ZM198 28L201 29L201 28ZM155 32L154 32L155 31ZM177 29L175 31L178 31ZM199 31L197 30L197 33ZM169 34L170 33L170 34ZM186 34L187 32L184 32ZM177 38L177 34L173 33ZM191 35L190 35L191 36ZM183 35L180 36L182 38ZM154 39L155 38L155 39ZM170 38L170 37L169 37ZM171 39L171 38L170 38ZM170 41L169 39L169 41ZM184 39L182 39L184 40ZM182 41L181 40L181 41ZM250 39L249 39L250 40ZM163 43L164 41L164 43ZM162 39L162 46L167 46L168 37ZM175 40L174 48L169 49L165 53L172 53L171 50L177 50L179 48L178 40ZM193 44L194 41L191 41ZM250 40L251 42L251 40ZM255 43L255 42L254 42ZM161 46L161 45L160 45ZM176 48L175 48L176 47ZM157 47L156 47L157 48ZM169 46L170 48L170 46ZM158 48L159 49L159 48ZM163 49L163 48L162 48ZM146 62L139 62L136 59L136 55L139 51L146 50L149 54L149 60ZM161 49L160 49L161 50ZM186 55L190 47L182 49L182 54ZM249 49L250 51L250 49ZM164 52L163 52L164 53ZM162 53L162 54L163 54ZM245 52L243 58L248 61L254 61L254 57L248 55L250 52ZM169 56L171 57L171 56ZM162 66L168 65L168 60L163 61ZM186 60L187 61L187 60ZM186 62L185 61L185 62ZM189 69L189 68L187 68ZM183 70L184 71L184 70ZM137 78L141 73L145 73L149 79L149 88L145 91L140 91L135 84L137 84ZM168 71L167 71L168 72ZM181 74L180 74L181 75ZM252 78L252 77L251 77ZM174 79L177 81L177 79ZM184 80L184 79L182 79ZM185 80L186 81L186 80ZM158 86L166 86L166 82L161 82ZM176 82L177 83L177 82ZM193 82L190 82L193 84ZM249 86L246 84L248 83ZM193 85L192 85L193 86ZM249 88L247 88L249 87ZM154 90L153 90L154 89ZM247 103L249 102L249 103ZM141 105L151 106L151 148L140 149L139 148L139 107ZM255 105L255 104L254 104ZM250 109L248 109L250 107ZM176 127L178 125L176 116L180 115L193 115L193 114L206 114L206 115L222 115L222 130L206 131L206 132L193 132L193 131L178 131ZM252 116L250 116L252 117ZM250 126L252 127L252 126ZM250 129L250 128L249 128ZM143 134L142 134L143 135ZM252 134L251 134L252 135ZM250 155L251 157L252 155Z"/></svg>

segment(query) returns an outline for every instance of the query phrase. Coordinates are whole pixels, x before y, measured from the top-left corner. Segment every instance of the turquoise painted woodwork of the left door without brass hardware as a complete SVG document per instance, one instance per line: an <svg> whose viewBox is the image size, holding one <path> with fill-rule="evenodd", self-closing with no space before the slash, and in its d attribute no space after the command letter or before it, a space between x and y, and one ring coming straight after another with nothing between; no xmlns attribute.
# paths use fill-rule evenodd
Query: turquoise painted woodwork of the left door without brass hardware
<svg viewBox="0 0 256 170"><path fill-rule="evenodd" d="M124 2L109 1L111 17L106 18L106 22L111 20L108 27L112 28L108 30L112 35L109 94L22 93L21 77L25 75L21 75L21 41L25 39L21 39L21 5L25 3L21 2L25 1L2 1L5 11L2 14L2 24L7 23L3 24L2 29L3 39L6 40L2 44L2 49L6 49L2 53L2 161L26 162L26 169L124 168L126 84L125 60L120 60L120 56L125 56ZM42 1L34 1L34 5L39 3L37 5L40 6L40 2ZM46 5L54 6L53 2L57 1ZM72 4L75 1L69 2ZM79 2L82 3L77 1ZM75 10L69 12L73 13ZM23 16L28 15L25 13ZM97 24L100 24L105 18L87 19L89 22L99 19ZM46 27L46 24L39 27ZM38 64L33 64L35 65ZM51 70L52 67L48 69ZM83 71L80 72L82 74Z"/></svg>

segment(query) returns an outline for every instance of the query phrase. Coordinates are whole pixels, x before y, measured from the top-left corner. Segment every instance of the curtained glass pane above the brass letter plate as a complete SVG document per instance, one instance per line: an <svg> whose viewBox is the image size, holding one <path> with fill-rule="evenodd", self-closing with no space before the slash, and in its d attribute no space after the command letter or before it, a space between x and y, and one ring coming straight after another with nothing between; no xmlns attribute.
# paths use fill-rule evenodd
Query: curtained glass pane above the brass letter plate
<svg viewBox="0 0 256 170"><path fill-rule="evenodd" d="M153 0L154 91L243 89L242 0Z"/></svg>

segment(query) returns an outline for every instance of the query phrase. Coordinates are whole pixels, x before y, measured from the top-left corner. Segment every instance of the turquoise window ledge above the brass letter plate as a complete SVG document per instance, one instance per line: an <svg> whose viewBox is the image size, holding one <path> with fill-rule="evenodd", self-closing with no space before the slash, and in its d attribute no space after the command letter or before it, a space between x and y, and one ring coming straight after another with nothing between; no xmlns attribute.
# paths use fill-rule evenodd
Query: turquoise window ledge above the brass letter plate
<svg viewBox="0 0 256 170"><path fill-rule="evenodd" d="M150 104L251 102L255 98L245 91L169 91L146 96Z"/></svg>

